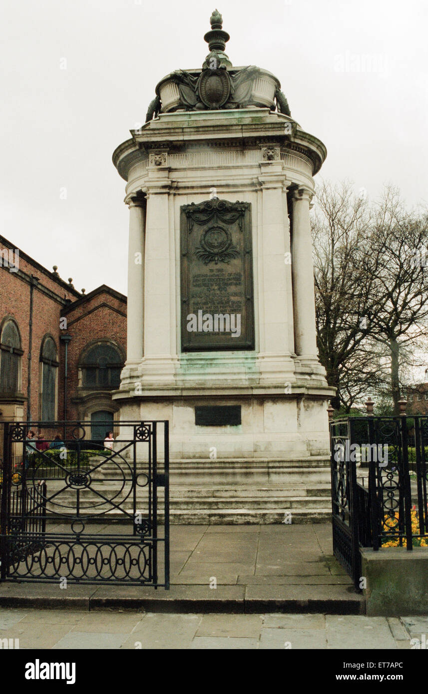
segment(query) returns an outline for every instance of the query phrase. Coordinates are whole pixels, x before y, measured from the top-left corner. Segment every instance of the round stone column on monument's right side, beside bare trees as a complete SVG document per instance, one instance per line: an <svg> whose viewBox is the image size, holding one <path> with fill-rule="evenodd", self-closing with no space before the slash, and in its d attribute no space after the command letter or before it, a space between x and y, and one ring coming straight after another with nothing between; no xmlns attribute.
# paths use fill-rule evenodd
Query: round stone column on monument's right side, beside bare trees
<svg viewBox="0 0 428 694"><path fill-rule="evenodd" d="M293 277L296 355L318 361L316 349L314 266L309 203L313 193L300 187L293 193L291 273Z"/></svg>

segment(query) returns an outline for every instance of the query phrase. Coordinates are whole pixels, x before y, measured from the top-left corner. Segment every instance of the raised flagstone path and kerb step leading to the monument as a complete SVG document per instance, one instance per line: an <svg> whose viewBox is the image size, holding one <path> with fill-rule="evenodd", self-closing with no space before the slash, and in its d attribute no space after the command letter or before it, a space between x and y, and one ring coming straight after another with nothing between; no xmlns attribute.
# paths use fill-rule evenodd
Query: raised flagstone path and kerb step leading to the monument
<svg viewBox="0 0 428 694"><path fill-rule="evenodd" d="M97 532L107 534L109 529L99 527ZM354 590L350 577L333 556L329 523L172 525L170 532L169 591L123 584L69 583L64 589L59 582L3 582L0 608L365 613L363 595Z"/></svg>

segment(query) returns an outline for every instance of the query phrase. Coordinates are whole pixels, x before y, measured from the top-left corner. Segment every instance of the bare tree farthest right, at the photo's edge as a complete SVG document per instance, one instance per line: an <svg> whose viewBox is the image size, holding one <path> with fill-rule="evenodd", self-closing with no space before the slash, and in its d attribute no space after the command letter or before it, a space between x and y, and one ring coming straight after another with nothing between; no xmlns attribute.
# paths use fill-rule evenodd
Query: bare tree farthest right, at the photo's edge
<svg viewBox="0 0 428 694"><path fill-rule="evenodd" d="M415 364L416 348L427 336L428 216L406 211L392 186L385 188L373 212L370 250L375 303L368 315L370 336L382 346L390 364L390 393L394 413L399 414L400 372Z"/></svg>

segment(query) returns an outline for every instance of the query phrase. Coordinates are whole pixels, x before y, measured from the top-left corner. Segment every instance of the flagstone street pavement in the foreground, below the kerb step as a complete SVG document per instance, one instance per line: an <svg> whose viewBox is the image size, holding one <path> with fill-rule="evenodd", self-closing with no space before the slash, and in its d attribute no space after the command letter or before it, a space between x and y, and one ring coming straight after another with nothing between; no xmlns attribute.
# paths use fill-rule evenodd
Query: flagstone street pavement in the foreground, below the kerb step
<svg viewBox="0 0 428 694"><path fill-rule="evenodd" d="M160 614L0 608L0 648L409 650L427 648L428 617ZM413 644L413 648L414 648Z"/></svg>

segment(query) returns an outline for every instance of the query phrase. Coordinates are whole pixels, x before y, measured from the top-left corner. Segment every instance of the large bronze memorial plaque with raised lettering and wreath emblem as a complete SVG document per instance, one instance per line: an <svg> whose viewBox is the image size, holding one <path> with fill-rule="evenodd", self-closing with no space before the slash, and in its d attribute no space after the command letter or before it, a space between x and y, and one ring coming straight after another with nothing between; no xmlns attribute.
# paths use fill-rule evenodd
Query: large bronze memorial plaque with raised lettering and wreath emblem
<svg viewBox="0 0 428 694"><path fill-rule="evenodd" d="M180 210L182 351L254 349L251 204Z"/></svg>

